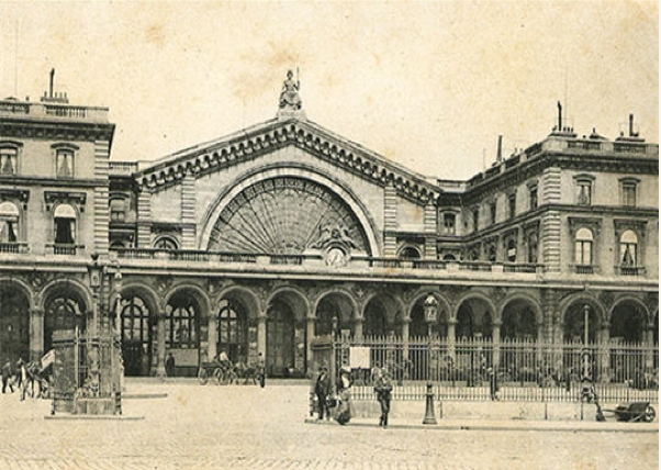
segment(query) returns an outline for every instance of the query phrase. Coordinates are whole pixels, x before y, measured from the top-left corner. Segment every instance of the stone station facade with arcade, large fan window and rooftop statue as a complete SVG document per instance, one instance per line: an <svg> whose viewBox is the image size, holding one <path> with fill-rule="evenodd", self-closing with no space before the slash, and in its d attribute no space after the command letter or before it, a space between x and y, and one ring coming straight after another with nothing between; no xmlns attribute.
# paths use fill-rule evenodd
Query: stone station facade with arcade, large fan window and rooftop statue
<svg viewBox="0 0 661 470"><path fill-rule="evenodd" d="M456 181L316 124L292 87L275 119L149 163L111 159L108 109L0 101L0 357L41 357L94 309L121 322L133 376L168 352L194 374L222 349L304 376L334 328L575 340L586 307L591 342L658 345L659 146L632 116L607 139L560 110Z"/></svg>

